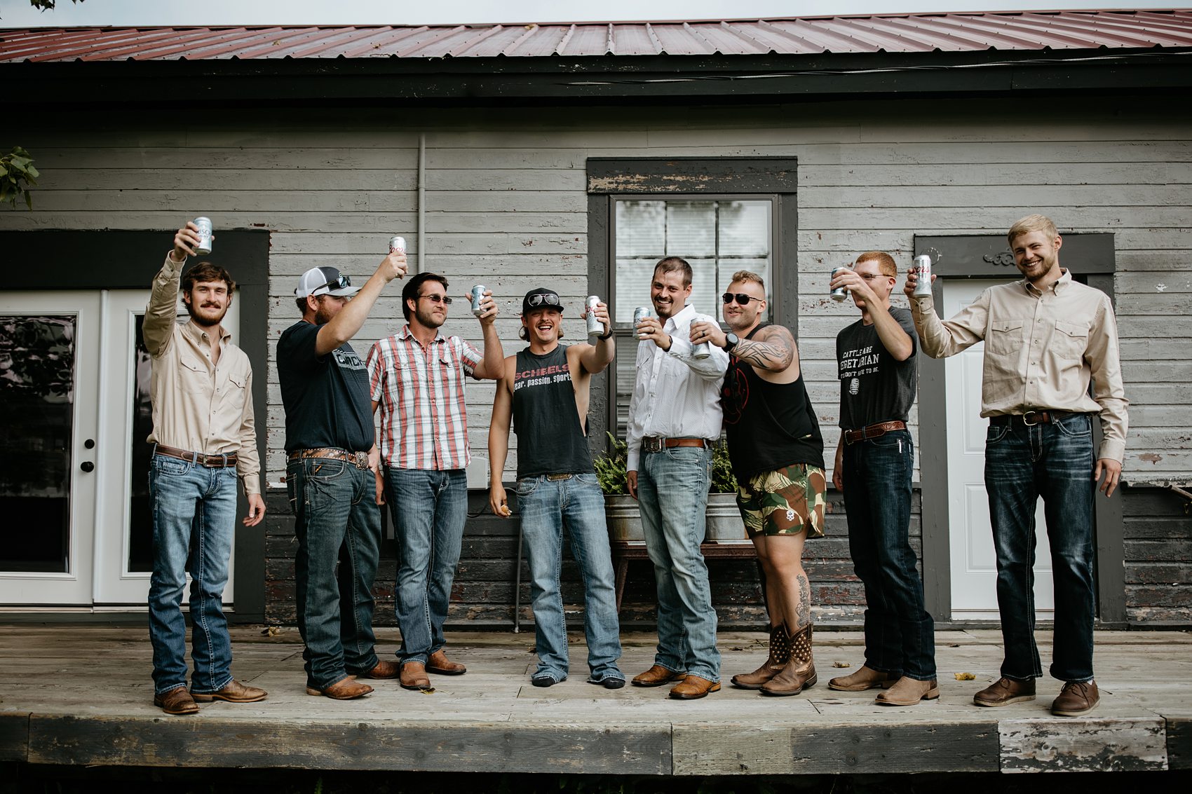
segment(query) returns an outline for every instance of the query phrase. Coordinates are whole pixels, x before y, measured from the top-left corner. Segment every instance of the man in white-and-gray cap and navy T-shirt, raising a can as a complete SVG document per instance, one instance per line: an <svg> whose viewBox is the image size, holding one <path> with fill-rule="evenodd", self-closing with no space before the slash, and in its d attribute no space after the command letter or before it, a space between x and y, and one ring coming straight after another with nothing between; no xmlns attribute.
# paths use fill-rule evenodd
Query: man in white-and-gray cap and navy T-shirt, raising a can
<svg viewBox="0 0 1192 794"><path fill-rule="evenodd" d="M302 320L278 340L308 695L352 700L372 691L356 678L398 675L397 664L378 659L373 649L378 457L368 377L348 340L385 285L404 275L403 252L386 256L362 289L334 267L312 267L294 290Z"/></svg>

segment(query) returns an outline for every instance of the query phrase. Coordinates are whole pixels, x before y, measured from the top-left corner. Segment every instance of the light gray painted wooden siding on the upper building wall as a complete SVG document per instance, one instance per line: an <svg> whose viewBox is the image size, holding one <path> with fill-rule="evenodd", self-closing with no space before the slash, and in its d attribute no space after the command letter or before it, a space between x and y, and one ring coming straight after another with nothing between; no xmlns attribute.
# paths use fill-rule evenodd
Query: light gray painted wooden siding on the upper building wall
<svg viewBox="0 0 1192 794"><path fill-rule="evenodd" d="M88 117L95 132L80 132L79 119L66 116L18 120L12 137L33 153L43 179L36 209L0 210L0 228L160 228L163 252L166 230L200 212L216 221L217 234L269 229L272 337L296 320L291 294L302 271L330 263L362 280L387 236L403 234L411 258L424 249L427 268L445 273L453 293L474 281L493 289L508 353L519 347L517 296L541 283L559 289L570 309L569 336L582 336L576 309L588 293L586 253L603 244L586 238L589 156L793 156L800 185L799 336L830 448L837 440L832 340L853 312L826 299L828 269L871 248L905 265L915 234L1001 232L1041 211L1062 230L1115 234L1132 403L1126 479L1192 479L1186 108L1150 112L1113 99L907 101L609 107L560 118L536 110L341 111L335 118L236 112L187 119L178 129L156 116ZM420 131L427 143L421 241L414 234ZM156 266L145 262L147 284ZM365 325L361 352L399 325L398 291L390 289ZM447 329L479 339L461 306L453 308ZM268 429L268 480L277 483L284 472L283 414L272 361L267 377L269 404L259 412ZM491 397L491 384L470 386L470 436L482 459ZM483 460L472 473L473 484L486 479Z"/></svg>

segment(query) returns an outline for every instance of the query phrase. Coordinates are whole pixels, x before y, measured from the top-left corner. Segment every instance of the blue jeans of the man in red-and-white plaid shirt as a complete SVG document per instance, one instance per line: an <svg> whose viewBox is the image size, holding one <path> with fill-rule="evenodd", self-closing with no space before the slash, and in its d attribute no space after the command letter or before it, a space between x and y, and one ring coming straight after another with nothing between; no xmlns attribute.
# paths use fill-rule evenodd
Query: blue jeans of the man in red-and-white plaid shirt
<svg viewBox="0 0 1192 794"><path fill-rule="evenodd" d="M462 469L386 469L389 505L397 529L397 625L402 662L423 662L441 649L451 585L467 521Z"/></svg>

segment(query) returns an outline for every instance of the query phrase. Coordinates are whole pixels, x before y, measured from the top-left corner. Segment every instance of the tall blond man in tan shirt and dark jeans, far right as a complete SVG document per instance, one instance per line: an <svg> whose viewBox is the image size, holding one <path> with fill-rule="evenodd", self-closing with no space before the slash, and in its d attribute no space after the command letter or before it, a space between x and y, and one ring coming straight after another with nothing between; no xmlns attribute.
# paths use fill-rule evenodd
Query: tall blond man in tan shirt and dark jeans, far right
<svg viewBox="0 0 1192 794"><path fill-rule="evenodd" d="M1093 497L1103 474L1100 490L1113 494L1125 453L1117 321L1104 292L1060 267L1063 241L1049 218L1022 218L1007 238L1024 279L986 290L951 320L940 322L931 296L914 294L913 272L905 291L927 355L955 355L985 340L985 484L1006 651L1001 678L973 701L1035 700L1043 670L1033 633L1033 516L1042 496L1055 576L1050 674L1064 682L1051 713L1075 717L1100 699L1093 681ZM1095 460L1094 416L1103 432Z"/></svg>

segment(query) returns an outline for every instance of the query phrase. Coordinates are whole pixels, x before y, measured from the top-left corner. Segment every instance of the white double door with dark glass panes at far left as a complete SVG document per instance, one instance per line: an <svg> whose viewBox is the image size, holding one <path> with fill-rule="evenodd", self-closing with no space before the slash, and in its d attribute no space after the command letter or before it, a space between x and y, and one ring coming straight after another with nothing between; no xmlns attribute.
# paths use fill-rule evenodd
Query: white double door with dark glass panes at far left
<svg viewBox="0 0 1192 794"><path fill-rule="evenodd" d="M11 527L35 529L0 548L0 607L145 608L148 299L148 290L0 296L0 460L13 461L0 471L0 508ZM235 300L224 327L238 328Z"/></svg>

